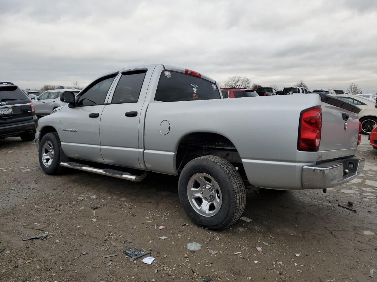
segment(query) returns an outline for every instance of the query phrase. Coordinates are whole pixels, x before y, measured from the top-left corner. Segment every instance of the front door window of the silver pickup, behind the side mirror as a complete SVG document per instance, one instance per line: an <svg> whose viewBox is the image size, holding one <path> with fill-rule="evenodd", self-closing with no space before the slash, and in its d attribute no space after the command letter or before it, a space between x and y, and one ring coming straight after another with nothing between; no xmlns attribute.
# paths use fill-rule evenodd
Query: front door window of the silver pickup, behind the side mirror
<svg viewBox="0 0 377 282"><path fill-rule="evenodd" d="M94 106L103 105L109 92L110 86L117 74L111 76L102 77L101 79L94 81L92 86L89 86L85 92L80 95L77 102L78 106Z"/></svg>

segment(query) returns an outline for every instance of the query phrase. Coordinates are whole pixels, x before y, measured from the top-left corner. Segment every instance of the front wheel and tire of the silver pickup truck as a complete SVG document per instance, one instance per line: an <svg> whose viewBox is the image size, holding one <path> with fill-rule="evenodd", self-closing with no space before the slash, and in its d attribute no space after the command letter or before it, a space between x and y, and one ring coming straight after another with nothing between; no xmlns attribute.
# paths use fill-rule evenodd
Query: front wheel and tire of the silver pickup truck
<svg viewBox="0 0 377 282"><path fill-rule="evenodd" d="M49 148L52 149L49 150ZM58 133L49 132L43 136L39 144L38 158L39 165L46 174L60 174L63 167L60 166L60 139ZM42 158L43 154L45 158Z"/></svg>

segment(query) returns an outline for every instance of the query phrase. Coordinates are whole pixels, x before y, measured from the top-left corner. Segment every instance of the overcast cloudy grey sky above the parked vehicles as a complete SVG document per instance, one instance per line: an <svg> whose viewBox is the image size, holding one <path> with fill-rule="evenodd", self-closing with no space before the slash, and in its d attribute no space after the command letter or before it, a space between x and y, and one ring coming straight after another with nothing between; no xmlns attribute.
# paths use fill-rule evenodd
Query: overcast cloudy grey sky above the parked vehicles
<svg viewBox="0 0 377 282"><path fill-rule="evenodd" d="M162 63L219 82L377 91L376 0L0 3L0 81L21 88Z"/></svg>

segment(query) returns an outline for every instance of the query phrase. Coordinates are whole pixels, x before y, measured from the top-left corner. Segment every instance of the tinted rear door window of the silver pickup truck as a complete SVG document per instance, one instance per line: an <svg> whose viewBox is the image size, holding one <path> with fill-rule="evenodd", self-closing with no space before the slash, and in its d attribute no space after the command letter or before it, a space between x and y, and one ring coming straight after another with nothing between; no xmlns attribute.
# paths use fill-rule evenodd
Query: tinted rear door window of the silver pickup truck
<svg viewBox="0 0 377 282"><path fill-rule="evenodd" d="M145 74L145 70L122 73L118 85L116 85L111 103L138 102Z"/></svg>

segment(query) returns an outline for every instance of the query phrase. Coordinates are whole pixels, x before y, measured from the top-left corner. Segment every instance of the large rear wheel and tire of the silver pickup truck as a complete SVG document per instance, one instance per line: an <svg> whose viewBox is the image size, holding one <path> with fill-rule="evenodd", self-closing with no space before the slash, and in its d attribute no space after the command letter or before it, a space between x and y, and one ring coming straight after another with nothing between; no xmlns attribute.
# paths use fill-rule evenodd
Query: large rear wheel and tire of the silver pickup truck
<svg viewBox="0 0 377 282"><path fill-rule="evenodd" d="M230 162L218 156L201 156L185 165L179 176L178 193L187 216L211 230L231 226L241 217L246 205L240 174ZM208 207L206 211L204 207Z"/></svg>

